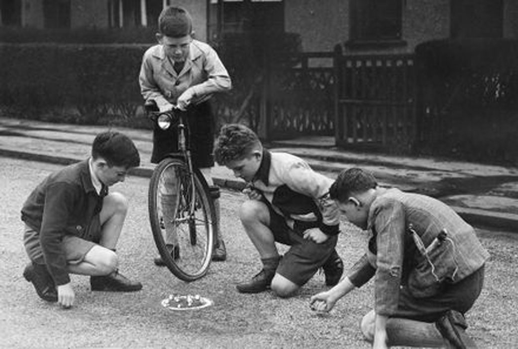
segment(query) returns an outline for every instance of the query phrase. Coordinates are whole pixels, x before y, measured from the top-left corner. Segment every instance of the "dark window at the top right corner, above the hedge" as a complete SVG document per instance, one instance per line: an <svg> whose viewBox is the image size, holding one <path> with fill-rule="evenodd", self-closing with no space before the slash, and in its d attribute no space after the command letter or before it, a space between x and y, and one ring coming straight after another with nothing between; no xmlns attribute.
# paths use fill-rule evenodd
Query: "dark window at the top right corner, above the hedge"
<svg viewBox="0 0 518 349"><path fill-rule="evenodd" d="M501 38L502 0L452 0L452 38Z"/></svg>

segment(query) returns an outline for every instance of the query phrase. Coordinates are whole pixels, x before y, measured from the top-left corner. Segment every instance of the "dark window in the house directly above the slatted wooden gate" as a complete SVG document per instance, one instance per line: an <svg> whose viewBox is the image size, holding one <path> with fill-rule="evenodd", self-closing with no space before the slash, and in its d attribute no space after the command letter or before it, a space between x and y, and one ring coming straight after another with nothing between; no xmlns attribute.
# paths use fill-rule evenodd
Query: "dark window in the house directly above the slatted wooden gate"
<svg viewBox="0 0 518 349"><path fill-rule="evenodd" d="M401 40L401 0L351 0L352 42Z"/></svg>

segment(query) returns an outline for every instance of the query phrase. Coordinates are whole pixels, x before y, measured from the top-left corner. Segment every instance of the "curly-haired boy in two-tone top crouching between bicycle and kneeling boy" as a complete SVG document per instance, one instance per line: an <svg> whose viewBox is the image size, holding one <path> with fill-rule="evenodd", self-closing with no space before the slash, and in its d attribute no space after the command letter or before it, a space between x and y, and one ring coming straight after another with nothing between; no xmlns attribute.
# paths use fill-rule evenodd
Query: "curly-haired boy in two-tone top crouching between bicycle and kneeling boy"
<svg viewBox="0 0 518 349"><path fill-rule="evenodd" d="M339 211L327 192L333 183L300 158L270 153L243 125L223 126L214 150L216 161L248 182L249 199L240 220L257 249L263 269L237 285L241 293L269 288L292 296L322 267L327 285L335 285L343 263L335 250ZM281 257L275 242L290 245Z"/></svg>

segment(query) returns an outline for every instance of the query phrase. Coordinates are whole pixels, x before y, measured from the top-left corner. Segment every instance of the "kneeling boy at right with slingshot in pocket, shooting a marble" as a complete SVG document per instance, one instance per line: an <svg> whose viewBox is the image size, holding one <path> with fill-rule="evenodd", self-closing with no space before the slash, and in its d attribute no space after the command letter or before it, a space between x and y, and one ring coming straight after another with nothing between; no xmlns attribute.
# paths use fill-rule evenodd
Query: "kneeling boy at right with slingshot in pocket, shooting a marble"
<svg viewBox="0 0 518 349"><path fill-rule="evenodd" d="M328 312L375 276L375 308L361 323L373 347L474 347L464 314L480 295L489 254L473 228L444 203L381 188L362 169L340 173L329 194L370 240L346 278L311 297L312 309Z"/></svg>

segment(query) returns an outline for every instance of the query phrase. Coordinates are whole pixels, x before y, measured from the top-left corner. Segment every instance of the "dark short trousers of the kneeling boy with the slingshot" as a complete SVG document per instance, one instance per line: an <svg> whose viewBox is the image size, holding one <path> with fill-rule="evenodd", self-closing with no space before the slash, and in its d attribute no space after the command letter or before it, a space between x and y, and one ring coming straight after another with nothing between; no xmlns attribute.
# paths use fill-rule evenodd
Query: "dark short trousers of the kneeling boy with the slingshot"
<svg viewBox="0 0 518 349"><path fill-rule="evenodd" d="M398 309L391 317L436 322L448 310L464 314L479 297L483 284L484 266L463 280L448 284L442 292L431 297L414 298L406 286L401 286Z"/></svg>

